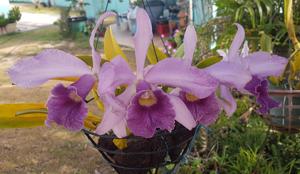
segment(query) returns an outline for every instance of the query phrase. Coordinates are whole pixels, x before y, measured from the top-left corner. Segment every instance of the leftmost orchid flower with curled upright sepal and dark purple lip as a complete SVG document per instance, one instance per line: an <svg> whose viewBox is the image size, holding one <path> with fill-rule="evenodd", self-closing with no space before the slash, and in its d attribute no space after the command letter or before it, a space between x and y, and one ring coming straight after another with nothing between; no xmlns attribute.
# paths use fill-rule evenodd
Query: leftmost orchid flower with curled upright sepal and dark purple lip
<svg viewBox="0 0 300 174"><path fill-rule="evenodd" d="M77 57L56 49L48 49L37 56L17 62L9 69L12 82L21 87L35 87L54 78L75 77L76 82L65 87L55 86L47 102L48 118L46 125L52 122L62 125L71 131L83 128L83 120L88 109L85 98L97 81L100 71L100 55L94 48L94 38L102 21L114 13L108 12L100 16L90 37L92 48L92 70Z"/></svg>

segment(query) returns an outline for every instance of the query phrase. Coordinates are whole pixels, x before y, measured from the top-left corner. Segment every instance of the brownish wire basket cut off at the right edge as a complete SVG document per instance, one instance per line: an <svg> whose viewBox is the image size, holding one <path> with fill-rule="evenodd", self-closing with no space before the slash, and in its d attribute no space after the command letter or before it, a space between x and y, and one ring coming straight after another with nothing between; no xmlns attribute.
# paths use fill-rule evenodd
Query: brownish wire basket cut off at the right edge
<svg viewBox="0 0 300 174"><path fill-rule="evenodd" d="M270 127L287 133L300 132L300 90L270 90L269 94L281 104L267 116Z"/></svg>

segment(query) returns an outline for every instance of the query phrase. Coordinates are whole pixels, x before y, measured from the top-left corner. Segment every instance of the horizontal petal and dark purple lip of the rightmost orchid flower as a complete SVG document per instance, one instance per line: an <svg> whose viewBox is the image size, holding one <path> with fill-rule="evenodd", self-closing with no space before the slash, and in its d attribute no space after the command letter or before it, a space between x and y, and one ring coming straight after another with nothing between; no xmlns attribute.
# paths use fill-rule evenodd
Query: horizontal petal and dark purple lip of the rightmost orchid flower
<svg viewBox="0 0 300 174"><path fill-rule="evenodd" d="M246 84L245 90L256 97L260 104L259 113L267 114L270 109L278 107L276 102L268 95L268 76L280 76L288 60L284 57L271 55L267 52L256 52L249 55L249 48L245 42L242 50L242 63L246 65L252 74L252 79ZM264 61L263 63L261 61ZM266 68L267 67L267 68Z"/></svg>

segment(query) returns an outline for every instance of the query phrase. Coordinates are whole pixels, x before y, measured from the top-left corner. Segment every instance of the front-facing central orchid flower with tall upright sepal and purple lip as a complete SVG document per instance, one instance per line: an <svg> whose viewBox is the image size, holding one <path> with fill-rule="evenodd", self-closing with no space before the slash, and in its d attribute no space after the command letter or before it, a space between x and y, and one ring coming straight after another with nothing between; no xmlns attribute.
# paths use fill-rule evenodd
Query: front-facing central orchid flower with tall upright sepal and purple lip
<svg viewBox="0 0 300 174"><path fill-rule="evenodd" d="M137 72L135 75L121 57L103 65L98 92L109 107L96 129L98 134L113 130L121 138L127 135L127 126L134 135L150 138L156 129L173 130L175 120L190 130L196 126L183 101L165 93L158 85L177 87L198 98L206 98L216 90L218 82L209 74L174 58L144 68L152 38L149 16L145 10L138 9L134 36ZM115 89L121 85L127 85L127 89L115 96Z"/></svg>

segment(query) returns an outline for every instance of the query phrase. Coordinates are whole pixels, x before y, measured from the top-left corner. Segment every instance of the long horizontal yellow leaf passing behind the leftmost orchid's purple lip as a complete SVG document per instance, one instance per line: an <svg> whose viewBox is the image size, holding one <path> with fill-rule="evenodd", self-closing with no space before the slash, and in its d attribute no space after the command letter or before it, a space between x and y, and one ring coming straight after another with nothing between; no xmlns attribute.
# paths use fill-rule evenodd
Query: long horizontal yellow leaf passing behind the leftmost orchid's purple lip
<svg viewBox="0 0 300 174"><path fill-rule="evenodd" d="M31 128L44 126L47 109L43 103L0 104L0 128ZM89 113L84 121L86 128L96 129L100 117Z"/></svg>

